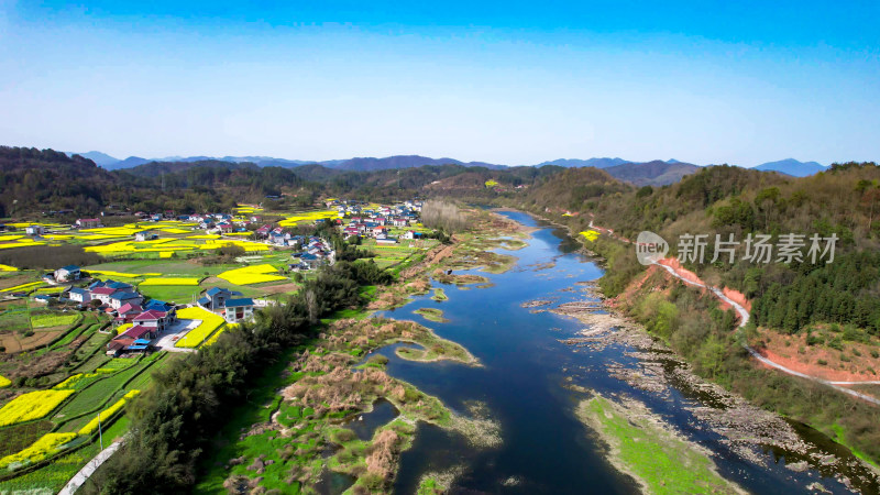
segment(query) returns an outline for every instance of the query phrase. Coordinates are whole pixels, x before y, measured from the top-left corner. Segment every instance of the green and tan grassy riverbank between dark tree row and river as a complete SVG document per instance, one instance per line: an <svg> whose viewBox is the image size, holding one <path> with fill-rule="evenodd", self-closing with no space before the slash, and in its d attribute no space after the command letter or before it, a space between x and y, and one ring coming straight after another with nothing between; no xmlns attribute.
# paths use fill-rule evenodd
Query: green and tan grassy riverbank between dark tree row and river
<svg viewBox="0 0 880 495"><path fill-rule="evenodd" d="M339 475L350 480L353 493L384 492L396 474L399 453L411 444L417 421L466 432L459 425L470 420L454 417L436 397L389 376L387 359L371 358L356 365L362 356L399 340L441 345L447 359L474 361L460 345L413 322L336 320L285 354L283 369L271 370L268 382L261 385L272 386L260 386L267 391L260 397L265 408L254 413L246 406L249 420L234 421L233 428L215 438L196 492L258 485L315 493ZM362 439L351 422L369 416L380 399L392 403L398 416Z"/></svg>

